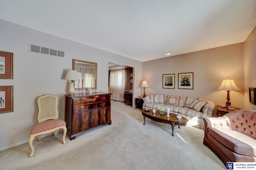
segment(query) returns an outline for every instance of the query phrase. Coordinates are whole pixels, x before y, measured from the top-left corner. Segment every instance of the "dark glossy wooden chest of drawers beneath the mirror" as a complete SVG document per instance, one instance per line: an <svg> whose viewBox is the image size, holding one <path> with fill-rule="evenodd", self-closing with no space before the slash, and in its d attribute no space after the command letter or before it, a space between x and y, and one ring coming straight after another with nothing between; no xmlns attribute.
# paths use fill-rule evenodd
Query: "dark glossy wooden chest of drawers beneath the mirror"
<svg viewBox="0 0 256 170"><path fill-rule="evenodd" d="M70 140L88 129L111 124L111 95L104 92L65 95L65 121Z"/></svg>

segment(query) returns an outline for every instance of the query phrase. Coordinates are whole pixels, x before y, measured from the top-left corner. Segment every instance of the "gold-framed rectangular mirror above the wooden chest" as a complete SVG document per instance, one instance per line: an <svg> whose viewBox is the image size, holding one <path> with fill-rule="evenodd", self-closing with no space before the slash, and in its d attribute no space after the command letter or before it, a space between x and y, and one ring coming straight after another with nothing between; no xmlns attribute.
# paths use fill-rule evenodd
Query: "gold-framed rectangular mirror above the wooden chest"
<svg viewBox="0 0 256 170"><path fill-rule="evenodd" d="M73 59L73 70L78 72L74 81L75 90L97 89L97 63Z"/></svg>

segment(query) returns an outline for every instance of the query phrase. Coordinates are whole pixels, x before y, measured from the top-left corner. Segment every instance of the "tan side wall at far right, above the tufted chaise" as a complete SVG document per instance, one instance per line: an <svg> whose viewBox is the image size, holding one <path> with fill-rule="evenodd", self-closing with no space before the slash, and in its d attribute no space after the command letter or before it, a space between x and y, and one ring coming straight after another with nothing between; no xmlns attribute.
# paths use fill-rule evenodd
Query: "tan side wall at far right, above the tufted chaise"
<svg viewBox="0 0 256 170"><path fill-rule="evenodd" d="M256 88L256 27L244 42L244 108L256 110L249 101L249 87ZM255 99L254 99L255 100Z"/></svg>

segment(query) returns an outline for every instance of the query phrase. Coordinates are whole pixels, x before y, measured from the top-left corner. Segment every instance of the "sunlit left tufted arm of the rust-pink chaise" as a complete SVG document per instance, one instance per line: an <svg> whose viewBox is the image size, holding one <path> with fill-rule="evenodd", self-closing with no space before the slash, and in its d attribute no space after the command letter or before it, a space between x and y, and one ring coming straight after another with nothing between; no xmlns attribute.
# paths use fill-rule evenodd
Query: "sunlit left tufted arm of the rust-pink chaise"
<svg viewBox="0 0 256 170"><path fill-rule="evenodd" d="M231 127L228 126L226 120L223 117L205 117L204 121L204 136L207 137L208 128L220 128L231 130Z"/></svg>

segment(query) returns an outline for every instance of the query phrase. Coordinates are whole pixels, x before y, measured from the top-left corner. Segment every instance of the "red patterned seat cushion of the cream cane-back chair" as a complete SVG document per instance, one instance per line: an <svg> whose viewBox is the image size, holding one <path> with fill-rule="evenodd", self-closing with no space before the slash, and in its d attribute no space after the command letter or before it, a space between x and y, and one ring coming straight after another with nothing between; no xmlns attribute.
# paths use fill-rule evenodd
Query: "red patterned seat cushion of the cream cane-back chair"
<svg viewBox="0 0 256 170"><path fill-rule="evenodd" d="M60 119L41 122L32 128L30 134L36 134L53 128L62 127L64 125L66 125L66 122Z"/></svg>

